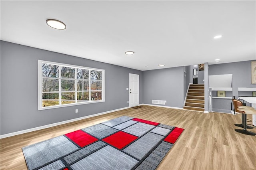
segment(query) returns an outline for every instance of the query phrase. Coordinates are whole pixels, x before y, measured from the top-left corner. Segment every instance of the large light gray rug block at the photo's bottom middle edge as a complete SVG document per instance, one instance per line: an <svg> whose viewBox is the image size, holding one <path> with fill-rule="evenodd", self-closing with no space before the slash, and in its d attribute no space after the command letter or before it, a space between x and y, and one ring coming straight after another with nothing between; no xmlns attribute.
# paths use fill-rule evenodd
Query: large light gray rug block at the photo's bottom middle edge
<svg viewBox="0 0 256 170"><path fill-rule="evenodd" d="M109 161L110 158L111 161ZM108 145L71 165L71 168L73 170L130 170L137 163L136 159Z"/></svg>

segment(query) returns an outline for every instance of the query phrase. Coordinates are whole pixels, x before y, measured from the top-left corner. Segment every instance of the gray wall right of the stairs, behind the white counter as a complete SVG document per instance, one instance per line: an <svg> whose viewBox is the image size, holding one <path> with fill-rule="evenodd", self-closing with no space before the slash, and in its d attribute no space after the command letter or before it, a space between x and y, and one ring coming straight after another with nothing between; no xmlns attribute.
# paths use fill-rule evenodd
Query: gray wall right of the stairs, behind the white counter
<svg viewBox="0 0 256 170"><path fill-rule="evenodd" d="M235 96L238 99L238 87L256 87L251 84L251 61L241 61L234 63L223 63L209 65L208 75L233 74L233 92L226 92L226 97ZM243 95L243 92L239 92ZM252 95L252 92L250 92ZM214 99L212 102L213 111L230 111L231 99Z"/></svg>

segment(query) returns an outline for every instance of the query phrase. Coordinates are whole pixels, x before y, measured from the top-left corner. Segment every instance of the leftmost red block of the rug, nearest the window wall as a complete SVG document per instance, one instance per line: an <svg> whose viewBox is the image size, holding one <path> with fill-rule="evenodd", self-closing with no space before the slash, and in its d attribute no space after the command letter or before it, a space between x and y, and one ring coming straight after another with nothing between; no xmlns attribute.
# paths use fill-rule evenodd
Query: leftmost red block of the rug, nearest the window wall
<svg viewBox="0 0 256 170"><path fill-rule="evenodd" d="M84 147L98 140L97 138L94 138L82 130L76 130L65 135L81 147Z"/></svg>

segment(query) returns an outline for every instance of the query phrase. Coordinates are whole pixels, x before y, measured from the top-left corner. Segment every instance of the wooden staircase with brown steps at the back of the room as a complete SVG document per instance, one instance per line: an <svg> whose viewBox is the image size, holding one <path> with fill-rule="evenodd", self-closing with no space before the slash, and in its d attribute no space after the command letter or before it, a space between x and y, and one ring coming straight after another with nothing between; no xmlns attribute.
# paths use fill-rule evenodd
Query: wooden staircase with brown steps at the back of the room
<svg viewBox="0 0 256 170"><path fill-rule="evenodd" d="M190 84L183 109L204 111L204 84Z"/></svg>

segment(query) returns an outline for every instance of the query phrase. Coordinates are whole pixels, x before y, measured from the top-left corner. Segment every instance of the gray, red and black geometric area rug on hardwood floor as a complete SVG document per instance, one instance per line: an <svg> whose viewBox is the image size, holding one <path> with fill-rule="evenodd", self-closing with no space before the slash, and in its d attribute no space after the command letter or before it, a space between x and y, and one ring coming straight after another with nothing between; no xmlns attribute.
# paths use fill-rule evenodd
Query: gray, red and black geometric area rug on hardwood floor
<svg viewBox="0 0 256 170"><path fill-rule="evenodd" d="M28 170L155 170L183 130L122 116L22 151Z"/></svg>

